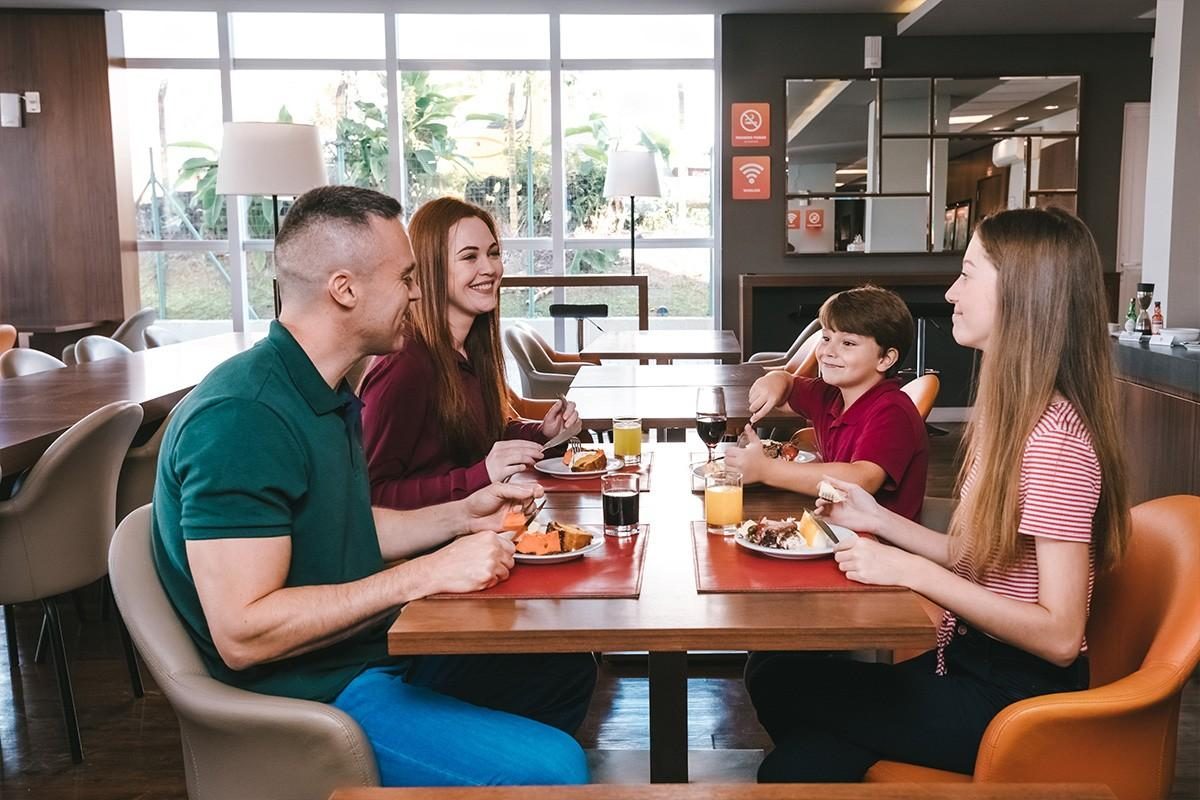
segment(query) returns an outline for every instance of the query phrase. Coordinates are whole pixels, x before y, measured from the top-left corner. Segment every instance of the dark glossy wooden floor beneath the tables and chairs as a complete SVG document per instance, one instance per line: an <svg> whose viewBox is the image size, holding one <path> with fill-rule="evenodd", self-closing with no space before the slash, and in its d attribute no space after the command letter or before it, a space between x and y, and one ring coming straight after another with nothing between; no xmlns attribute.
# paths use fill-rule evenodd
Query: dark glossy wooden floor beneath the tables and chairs
<svg viewBox="0 0 1200 800"><path fill-rule="evenodd" d="M958 429L932 439L930 494L948 494ZM40 610L18 609L19 663L0 639L0 800L182 799L179 729L163 694L149 679L143 699L130 693L114 624L98 618L97 593L85 595L84 619L62 603L67 649L83 730L85 760L66 750L54 667L32 661ZM694 750L764 748L736 661L695 657L688 686L689 745ZM584 747L648 747L647 681L636 663L606 663L580 740ZM1180 722L1172 800L1200 798L1200 679L1189 681Z"/></svg>

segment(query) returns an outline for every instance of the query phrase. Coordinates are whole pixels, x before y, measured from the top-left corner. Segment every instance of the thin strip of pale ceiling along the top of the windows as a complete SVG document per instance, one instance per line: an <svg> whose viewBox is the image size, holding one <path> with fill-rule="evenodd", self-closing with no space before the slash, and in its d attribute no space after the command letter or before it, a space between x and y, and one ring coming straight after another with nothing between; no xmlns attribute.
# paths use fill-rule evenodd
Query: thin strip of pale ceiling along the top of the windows
<svg viewBox="0 0 1200 800"><path fill-rule="evenodd" d="M160 11L907 13L920 0L0 0L0 7Z"/></svg>

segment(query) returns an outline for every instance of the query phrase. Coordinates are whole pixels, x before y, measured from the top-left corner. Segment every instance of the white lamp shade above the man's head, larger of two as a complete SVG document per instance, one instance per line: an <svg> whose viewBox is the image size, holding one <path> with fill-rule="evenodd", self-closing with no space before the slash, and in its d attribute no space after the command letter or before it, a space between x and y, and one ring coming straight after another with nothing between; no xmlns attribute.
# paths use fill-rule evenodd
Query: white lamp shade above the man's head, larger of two
<svg viewBox="0 0 1200 800"><path fill-rule="evenodd" d="M320 136L312 125L226 122L217 194L304 194L324 186Z"/></svg>

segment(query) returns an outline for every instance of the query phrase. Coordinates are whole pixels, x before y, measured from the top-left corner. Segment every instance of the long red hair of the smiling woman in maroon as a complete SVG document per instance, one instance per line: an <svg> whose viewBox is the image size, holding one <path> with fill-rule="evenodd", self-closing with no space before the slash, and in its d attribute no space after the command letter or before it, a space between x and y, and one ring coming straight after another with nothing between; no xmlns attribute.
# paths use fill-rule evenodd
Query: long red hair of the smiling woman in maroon
<svg viewBox="0 0 1200 800"><path fill-rule="evenodd" d="M504 437L508 384L500 351L500 276L496 276L496 308L475 317L463 348L484 392L484 419L472 413L463 391L458 353L450 336L450 231L469 218L481 219L499 243L496 221L484 209L452 197L430 200L413 215L408 235L416 257L416 285L421 302L408 309L408 332L433 357L434 409L450 452L460 463L479 461Z"/></svg>

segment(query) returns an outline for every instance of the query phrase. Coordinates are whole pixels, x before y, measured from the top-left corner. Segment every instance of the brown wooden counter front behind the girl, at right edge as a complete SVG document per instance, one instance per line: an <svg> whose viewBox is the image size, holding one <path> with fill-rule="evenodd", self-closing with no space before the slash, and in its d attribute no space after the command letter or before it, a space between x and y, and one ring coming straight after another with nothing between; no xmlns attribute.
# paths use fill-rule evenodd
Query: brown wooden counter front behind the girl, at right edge
<svg viewBox="0 0 1200 800"><path fill-rule="evenodd" d="M1200 403L1117 380L1129 501L1200 494Z"/></svg>

